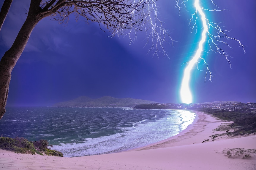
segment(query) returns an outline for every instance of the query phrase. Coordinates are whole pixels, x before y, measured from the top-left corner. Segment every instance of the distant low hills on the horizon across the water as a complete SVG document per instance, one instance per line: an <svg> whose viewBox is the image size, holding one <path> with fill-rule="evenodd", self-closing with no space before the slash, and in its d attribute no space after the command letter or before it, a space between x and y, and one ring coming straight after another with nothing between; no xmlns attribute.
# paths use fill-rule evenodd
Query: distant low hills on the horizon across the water
<svg viewBox="0 0 256 170"><path fill-rule="evenodd" d="M97 99L80 96L70 101L56 103L53 107L134 107L138 104L145 103L157 102L134 98L114 98L110 96L104 96Z"/></svg>

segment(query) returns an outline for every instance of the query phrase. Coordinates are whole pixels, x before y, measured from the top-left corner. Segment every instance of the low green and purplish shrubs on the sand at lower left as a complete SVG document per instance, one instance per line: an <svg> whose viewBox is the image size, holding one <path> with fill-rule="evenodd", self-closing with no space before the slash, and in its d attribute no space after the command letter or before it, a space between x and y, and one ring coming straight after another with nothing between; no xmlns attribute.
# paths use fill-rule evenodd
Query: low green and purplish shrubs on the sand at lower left
<svg viewBox="0 0 256 170"><path fill-rule="evenodd" d="M14 151L15 153L46 154L48 156L63 156L56 150L51 150L47 140L28 141L23 137L0 137L0 149Z"/></svg>

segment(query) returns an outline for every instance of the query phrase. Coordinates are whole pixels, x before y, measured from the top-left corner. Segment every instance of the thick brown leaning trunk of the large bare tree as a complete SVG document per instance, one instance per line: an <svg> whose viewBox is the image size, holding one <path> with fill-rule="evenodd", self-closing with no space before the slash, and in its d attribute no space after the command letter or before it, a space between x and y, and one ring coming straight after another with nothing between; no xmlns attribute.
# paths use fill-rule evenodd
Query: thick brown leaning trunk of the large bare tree
<svg viewBox="0 0 256 170"><path fill-rule="evenodd" d="M5 106L7 102L12 69L20 58L32 30L42 18L43 17L39 15L39 11L35 9L32 4L30 4L26 21L21 27L20 32L12 44L12 47L5 52L0 61L0 119L3 117L6 111Z"/></svg>

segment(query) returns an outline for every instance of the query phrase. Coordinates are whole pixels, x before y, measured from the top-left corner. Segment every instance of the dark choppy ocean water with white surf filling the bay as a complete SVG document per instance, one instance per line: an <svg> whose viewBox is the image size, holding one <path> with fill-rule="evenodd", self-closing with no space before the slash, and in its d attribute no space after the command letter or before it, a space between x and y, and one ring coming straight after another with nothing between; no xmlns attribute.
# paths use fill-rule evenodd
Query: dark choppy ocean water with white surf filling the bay
<svg viewBox="0 0 256 170"><path fill-rule="evenodd" d="M186 110L7 107L0 135L46 139L65 157L130 150L177 135L195 119Z"/></svg>

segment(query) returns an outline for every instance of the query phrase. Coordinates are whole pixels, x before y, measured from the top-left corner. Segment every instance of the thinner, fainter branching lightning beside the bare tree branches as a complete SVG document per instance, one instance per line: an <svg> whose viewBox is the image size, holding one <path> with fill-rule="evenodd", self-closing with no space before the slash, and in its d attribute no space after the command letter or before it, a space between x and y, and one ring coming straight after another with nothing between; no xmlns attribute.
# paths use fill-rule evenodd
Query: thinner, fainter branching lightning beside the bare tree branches
<svg viewBox="0 0 256 170"><path fill-rule="evenodd" d="M158 17L159 7L157 6L156 1L157 0L152 0L150 3L147 3L148 0L134 0L134 4L145 4L145 8L142 11L143 16L145 17L141 20L141 25L138 27L131 27L128 32L127 30L124 30L123 27L120 27L108 37L114 37L115 35L118 37L120 35L124 35L124 37L128 36L130 41L129 45L132 45L137 39L137 31L142 30L146 33L146 43L144 47L150 46L148 54L151 52L153 57L157 56L159 58L159 55L161 55L169 58L167 51L165 50L165 44L174 47L173 43L178 41L173 40L170 36L171 32L163 27L164 22ZM134 11L130 11L130 17L136 17Z"/></svg>

